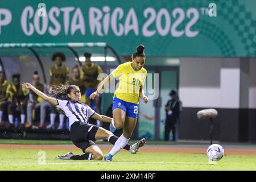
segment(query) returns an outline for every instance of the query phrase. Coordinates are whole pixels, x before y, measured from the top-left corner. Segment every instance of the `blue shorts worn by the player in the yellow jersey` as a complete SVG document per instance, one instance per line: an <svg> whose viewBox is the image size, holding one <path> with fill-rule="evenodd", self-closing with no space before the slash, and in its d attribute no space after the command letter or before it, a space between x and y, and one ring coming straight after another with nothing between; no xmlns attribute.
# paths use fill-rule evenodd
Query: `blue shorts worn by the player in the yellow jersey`
<svg viewBox="0 0 256 182"><path fill-rule="evenodd" d="M126 116L128 117L138 118L139 104L125 102L117 97L114 97L112 110L115 108L119 108L125 111Z"/></svg>

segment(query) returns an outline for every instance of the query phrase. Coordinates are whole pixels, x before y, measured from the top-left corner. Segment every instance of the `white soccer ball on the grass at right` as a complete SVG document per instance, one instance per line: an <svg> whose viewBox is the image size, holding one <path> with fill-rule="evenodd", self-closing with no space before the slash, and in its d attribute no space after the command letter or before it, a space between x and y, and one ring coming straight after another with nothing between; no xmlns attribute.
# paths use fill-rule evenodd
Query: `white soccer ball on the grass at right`
<svg viewBox="0 0 256 182"><path fill-rule="evenodd" d="M207 156L210 160L221 160L224 155L224 149L219 144L212 144L207 149Z"/></svg>

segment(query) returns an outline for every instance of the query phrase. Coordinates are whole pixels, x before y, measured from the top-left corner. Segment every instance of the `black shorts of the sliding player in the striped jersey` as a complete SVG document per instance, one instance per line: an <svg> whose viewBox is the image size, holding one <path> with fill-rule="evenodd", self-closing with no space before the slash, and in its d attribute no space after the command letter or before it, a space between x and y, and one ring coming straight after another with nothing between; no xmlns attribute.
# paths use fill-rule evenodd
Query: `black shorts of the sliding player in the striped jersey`
<svg viewBox="0 0 256 182"><path fill-rule="evenodd" d="M96 145L92 140L95 140L98 128L85 122L75 122L71 125L70 138L85 153L86 148Z"/></svg>

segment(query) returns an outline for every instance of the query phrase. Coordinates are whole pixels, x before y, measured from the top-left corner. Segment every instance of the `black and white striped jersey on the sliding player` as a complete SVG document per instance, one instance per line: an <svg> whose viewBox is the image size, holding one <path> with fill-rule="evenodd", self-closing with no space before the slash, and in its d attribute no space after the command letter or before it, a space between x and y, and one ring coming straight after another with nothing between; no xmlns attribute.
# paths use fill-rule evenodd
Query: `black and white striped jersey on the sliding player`
<svg viewBox="0 0 256 182"><path fill-rule="evenodd" d="M58 104L55 107L59 107L64 111L69 119L69 127L76 121L88 123L89 118L95 113L92 108L81 102L59 99L57 99L57 102Z"/></svg>

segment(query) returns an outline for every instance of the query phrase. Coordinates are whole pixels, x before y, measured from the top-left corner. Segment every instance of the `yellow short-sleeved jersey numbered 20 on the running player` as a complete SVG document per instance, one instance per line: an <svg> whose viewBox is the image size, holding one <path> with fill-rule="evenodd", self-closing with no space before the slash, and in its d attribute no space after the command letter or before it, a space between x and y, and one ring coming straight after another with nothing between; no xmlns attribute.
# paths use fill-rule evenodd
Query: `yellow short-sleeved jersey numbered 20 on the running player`
<svg viewBox="0 0 256 182"><path fill-rule="evenodd" d="M134 104L139 103L139 89L144 86L147 77L146 69L135 71L131 62L119 65L111 72L114 78L119 77L119 86L115 90L114 97Z"/></svg>

